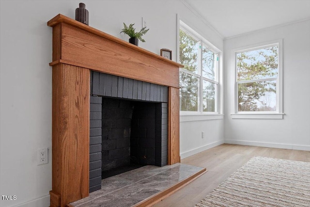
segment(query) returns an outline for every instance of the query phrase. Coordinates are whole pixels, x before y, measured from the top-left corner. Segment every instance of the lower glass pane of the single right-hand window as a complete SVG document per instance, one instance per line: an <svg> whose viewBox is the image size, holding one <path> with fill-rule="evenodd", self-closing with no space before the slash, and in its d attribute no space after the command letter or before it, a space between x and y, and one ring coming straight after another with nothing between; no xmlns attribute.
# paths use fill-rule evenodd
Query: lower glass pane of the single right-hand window
<svg viewBox="0 0 310 207"><path fill-rule="evenodd" d="M276 110L276 80L238 84L238 111Z"/></svg>

